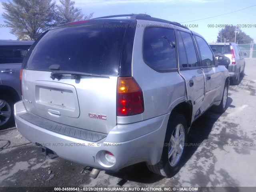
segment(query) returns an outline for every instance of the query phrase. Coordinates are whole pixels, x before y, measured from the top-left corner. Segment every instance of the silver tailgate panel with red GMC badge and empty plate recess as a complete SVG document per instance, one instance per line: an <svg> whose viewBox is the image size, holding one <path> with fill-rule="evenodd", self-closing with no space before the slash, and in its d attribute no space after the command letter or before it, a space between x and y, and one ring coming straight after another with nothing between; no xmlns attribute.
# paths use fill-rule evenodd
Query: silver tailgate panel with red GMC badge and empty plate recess
<svg viewBox="0 0 256 192"><path fill-rule="evenodd" d="M28 112L102 133L116 126L117 77L84 77L78 83L70 78L52 80L50 73L23 71L23 101Z"/></svg>

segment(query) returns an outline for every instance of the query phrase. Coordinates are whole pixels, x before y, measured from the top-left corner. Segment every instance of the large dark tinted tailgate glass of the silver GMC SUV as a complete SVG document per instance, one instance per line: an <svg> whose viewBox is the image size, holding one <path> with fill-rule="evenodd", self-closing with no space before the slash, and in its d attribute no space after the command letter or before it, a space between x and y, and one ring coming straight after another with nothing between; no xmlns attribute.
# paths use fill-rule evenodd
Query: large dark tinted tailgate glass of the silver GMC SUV
<svg viewBox="0 0 256 192"><path fill-rule="evenodd" d="M91 74L118 75L124 23L71 26L47 32L34 48L27 69L50 71L52 64L60 70Z"/></svg>

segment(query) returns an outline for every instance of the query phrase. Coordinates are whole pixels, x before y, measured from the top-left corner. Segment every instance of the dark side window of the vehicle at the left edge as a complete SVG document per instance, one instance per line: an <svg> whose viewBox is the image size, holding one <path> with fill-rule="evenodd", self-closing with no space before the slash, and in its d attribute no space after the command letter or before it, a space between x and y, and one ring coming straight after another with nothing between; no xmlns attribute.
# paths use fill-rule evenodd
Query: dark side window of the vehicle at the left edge
<svg viewBox="0 0 256 192"><path fill-rule="evenodd" d="M22 63L31 45L1 45L0 64Z"/></svg>

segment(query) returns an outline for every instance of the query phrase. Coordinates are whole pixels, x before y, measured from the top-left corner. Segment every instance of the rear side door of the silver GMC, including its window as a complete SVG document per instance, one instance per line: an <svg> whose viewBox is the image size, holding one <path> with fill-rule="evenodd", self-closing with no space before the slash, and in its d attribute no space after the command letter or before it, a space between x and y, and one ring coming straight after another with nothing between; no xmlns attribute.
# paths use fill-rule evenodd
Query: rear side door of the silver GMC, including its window
<svg viewBox="0 0 256 192"><path fill-rule="evenodd" d="M202 113L204 99L204 74L189 32L177 31L179 71L186 80L188 100L192 102L192 120Z"/></svg>

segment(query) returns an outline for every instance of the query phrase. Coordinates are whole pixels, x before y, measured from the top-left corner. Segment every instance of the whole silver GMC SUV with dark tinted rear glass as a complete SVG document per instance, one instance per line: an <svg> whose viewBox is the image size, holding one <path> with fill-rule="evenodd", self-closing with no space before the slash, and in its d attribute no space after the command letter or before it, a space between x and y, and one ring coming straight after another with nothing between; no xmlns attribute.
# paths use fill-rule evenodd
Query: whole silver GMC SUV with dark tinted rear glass
<svg viewBox="0 0 256 192"><path fill-rule="evenodd" d="M17 128L45 154L96 170L146 162L170 177L192 122L226 110L229 74L199 34L134 14L49 30L24 59L21 83Z"/></svg>

